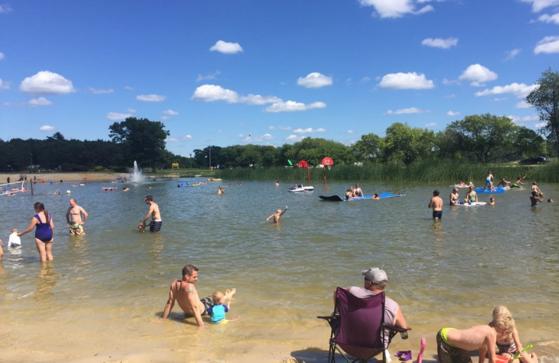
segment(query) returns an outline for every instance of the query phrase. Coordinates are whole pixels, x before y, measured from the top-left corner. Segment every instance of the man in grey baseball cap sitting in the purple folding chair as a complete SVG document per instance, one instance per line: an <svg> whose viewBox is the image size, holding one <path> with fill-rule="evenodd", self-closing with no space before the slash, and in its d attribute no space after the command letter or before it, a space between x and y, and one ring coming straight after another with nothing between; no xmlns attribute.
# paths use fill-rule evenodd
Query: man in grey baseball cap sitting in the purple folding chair
<svg viewBox="0 0 559 363"><path fill-rule="evenodd" d="M363 288L351 286L350 288L344 288L344 290L349 291L352 295L360 297L361 299L365 297L375 296L380 292L384 292L386 283L388 283L389 281L389 278L388 276L386 276L386 272L384 272L384 269L371 267L370 269L363 269L363 271L361 271L361 274L365 276L365 281L363 281ZM402 310L400 310L400 306L390 297L385 297L384 323L386 323L386 325L395 325L397 327L407 329L407 323L404 315L402 314ZM386 341L385 345L386 348L388 348L388 341Z"/></svg>

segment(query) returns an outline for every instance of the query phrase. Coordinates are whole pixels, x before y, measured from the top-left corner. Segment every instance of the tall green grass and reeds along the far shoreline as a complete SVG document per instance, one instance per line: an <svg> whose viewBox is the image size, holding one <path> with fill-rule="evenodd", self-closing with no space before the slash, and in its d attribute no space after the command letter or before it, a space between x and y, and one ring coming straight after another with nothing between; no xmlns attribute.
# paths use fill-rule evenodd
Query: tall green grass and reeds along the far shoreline
<svg viewBox="0 0 559 363"><path fill-rule="evenodd" d="M518 164L467 164L449 161L414 163L407 167L391 163L389 165L363 164L333 165L331 170L321 168L310 169L310 182L317 183L324 180L364 182L421 182L421 183L456 183L474 182L479 184L490 171L495 180L501 178L515 182L519 176L526 175L528 181L558 183L559 163L547 165L518 165ZM252 179L252 180L283 180L293 183L307 182L307 170L300 168L238 168L226 169L219 172L224 179Z"/></svg>

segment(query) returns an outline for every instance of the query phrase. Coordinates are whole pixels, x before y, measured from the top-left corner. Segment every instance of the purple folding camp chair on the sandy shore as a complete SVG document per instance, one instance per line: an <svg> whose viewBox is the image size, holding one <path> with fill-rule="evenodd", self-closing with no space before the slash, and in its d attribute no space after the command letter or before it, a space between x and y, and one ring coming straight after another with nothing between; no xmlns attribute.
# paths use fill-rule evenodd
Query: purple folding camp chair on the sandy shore
<svg viewBox="0 0 559 363"><path fill-rule="evenodd" d="M384 292L361 299L342 288L336 289L335 314L317 316L328 320L332 327L328 362L335 362L336 350L347 362L368 361L382 353L386 363L386 348L392 337L402 333L407 339L407 330L384 323ZM345 354L354 357L350 360Z"/></svg>

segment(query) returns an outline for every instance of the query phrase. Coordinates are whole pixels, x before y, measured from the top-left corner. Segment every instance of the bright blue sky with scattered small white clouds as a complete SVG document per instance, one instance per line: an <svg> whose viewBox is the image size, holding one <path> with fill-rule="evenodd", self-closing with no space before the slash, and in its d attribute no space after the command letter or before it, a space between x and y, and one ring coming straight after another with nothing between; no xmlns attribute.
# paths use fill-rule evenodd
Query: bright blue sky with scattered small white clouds
<svg viewBox="0 0 559 363"><path fill-rule="evenodd" d="M188 156L470 114L537 129L525 96L558 61L559 0L8 1L0 138L109 140L133 116Z"/></svg>

